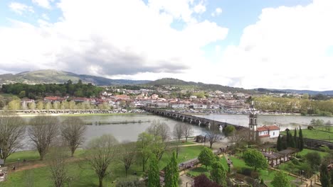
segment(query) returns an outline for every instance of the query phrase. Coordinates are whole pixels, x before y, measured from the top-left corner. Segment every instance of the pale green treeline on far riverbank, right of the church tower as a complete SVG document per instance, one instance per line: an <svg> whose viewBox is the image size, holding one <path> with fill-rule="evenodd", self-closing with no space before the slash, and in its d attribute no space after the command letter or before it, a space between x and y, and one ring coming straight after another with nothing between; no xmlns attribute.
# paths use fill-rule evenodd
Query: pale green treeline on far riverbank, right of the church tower
<svg viewBox="0 0 333 187"><path fill-rule="evenodd" d="M302 113L302 115L332 115L333 113L333 99L318 101L307 98L276 98L272 96L261 96L253 98L253 101L255 101L255 108L260 111Z"/></svg>

